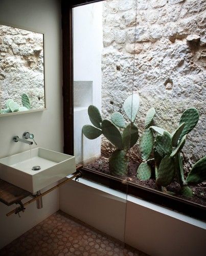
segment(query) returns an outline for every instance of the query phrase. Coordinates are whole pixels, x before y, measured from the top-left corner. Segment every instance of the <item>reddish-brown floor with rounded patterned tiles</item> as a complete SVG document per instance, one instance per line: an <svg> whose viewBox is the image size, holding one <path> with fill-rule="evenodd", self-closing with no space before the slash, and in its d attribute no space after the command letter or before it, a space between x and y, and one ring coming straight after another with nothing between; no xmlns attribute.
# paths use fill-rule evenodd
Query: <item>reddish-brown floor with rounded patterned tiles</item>
<svg viewBox="0 0 206 256"><path fill-rule="evenodd" d="M113 255L146 254L124 246L104 233L58 211L0 250L0 255Z"/></svg>

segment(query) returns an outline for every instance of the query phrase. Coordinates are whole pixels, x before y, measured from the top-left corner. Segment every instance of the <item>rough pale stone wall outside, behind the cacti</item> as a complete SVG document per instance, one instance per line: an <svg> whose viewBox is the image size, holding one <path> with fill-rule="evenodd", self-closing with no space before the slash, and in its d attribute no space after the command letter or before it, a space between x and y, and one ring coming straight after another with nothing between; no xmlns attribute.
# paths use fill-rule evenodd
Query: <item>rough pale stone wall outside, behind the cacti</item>
<svg viewBox="0 0 206 256"><path fill-rule="evenodd" d="M156 109L155 124L172 132L181 113L194 106L200 120L184 147L188 167L206 155L205 10L205 0L107 0L103 4L103 116L121 112L133 90L141 97L136 119L140 134L151 106ZM108 157L111 150L103 139L102 154ZM132 156L140 159L138 146Z"/></svg>

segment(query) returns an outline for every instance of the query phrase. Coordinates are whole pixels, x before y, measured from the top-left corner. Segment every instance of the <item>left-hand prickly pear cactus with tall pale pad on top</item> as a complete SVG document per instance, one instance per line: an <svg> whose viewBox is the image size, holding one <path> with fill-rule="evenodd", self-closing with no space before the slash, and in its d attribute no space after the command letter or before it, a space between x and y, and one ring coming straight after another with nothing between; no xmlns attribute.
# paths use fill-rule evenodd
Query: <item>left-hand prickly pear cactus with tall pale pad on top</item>
<svg viewBox="0 0 206 256"><path fill-rule="evenodd" d="M139 104L140 99L137 94L130 95L125 100L123 110L129 119L128 123L119 112L111 115L111 121L102 120L96 106L90 105L88 107L89 119L97 128L91 125L84 125L82 133L88 139L95 139L103 134L117 148L109 158L109 170L112 175L123 176L127 174L129 164L128 150L136 144L139 138L138 127L134 124Z"/></svg>

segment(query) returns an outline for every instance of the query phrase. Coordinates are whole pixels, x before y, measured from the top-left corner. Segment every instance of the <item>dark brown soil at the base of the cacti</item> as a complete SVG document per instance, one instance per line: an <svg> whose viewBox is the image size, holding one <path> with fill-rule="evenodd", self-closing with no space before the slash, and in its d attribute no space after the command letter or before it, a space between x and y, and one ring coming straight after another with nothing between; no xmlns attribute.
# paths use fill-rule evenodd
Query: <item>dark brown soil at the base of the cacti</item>
<svg viewBox="0 0 206 256"><path fill-rule="evenodd" d="M136 177L136 169L138 168L139 165L140 163L134 162L132 159L130 159L128 175L118 177L118 178L156 190L154 177L151 177L151 179L147 181L141 181ZM97 172L100 172L103 174L111 175L109 172L108 158L105 158L105 157L100 157L96 161L90 162L85 167L89 169L94 169ZM187 201L206 206L206 183L204 182L196 186L190 186L190 187L193 191L193 195L194 195L193 197L184 197L181 194L179 194L180 186L178 182L175 180L167 187L167 190L169 191L169 193L170 192L174 193L174 196L178 198L185 199Z"/></svg>

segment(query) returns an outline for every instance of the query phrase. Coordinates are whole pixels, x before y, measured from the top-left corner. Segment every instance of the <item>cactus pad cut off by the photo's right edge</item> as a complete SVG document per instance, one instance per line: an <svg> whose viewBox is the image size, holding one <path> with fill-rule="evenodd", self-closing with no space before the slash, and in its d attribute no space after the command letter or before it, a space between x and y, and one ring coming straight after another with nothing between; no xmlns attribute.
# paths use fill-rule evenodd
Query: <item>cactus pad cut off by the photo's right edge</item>
<svg viewBox="0 0 206 256"><path fill-rule="evenodd" d="M186 184L198 184L206 180L206 156L197 161L188 177L186 179Z"/></svg>

